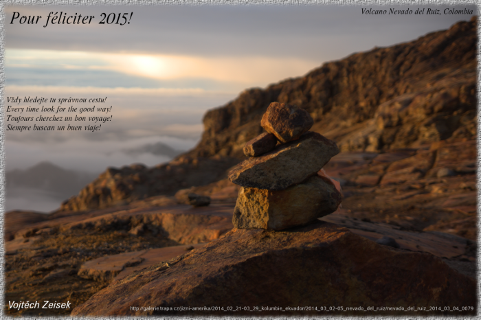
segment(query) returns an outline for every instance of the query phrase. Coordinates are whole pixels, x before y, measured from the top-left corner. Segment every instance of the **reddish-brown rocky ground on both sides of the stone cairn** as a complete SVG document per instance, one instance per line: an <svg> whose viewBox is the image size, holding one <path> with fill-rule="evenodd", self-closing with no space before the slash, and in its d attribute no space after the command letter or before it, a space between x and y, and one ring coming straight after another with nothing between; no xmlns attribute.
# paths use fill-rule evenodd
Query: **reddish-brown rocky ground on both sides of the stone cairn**
<svg viewBox="0 0 481 320"><path fill-rule="evenodd" d="M321 220L368 240L394 238L401 250L431 253L476 278L476 141L381 154L343 152L325 169L342 182L344 199L339 212ZM5 231L13 239L5 242L5 301L49 298L78 306L116 277L221 238L233 227L238 189L225 179L181 190L177 198L157 196L107 209L9 212ZM189 192L212 196L212 204L179 204ZM71 310L17 312L6 305L5 312Z"/></svg>

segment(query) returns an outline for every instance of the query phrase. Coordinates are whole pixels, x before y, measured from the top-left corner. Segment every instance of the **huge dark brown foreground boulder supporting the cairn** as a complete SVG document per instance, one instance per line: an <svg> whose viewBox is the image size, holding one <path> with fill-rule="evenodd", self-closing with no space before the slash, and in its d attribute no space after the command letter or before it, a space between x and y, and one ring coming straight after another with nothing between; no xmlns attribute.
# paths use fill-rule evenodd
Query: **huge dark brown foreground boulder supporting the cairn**
<svg viewBox="0 0 481 320"><path fill-rule="evenodd" d="M246 307L245 314L253 306L396 306L406 311L384 314L403 316L417 315L407 311L409 306L474 306L462 313L474 315L477 305L476 281L440 258L386 247L346 228L317 222L289 231L233 229L168 263L114 281L71 315L145 316L165 311L132 307L232 306L232 301L242 307L240 313ZM188 313L226 315L222 310L192 309L175 314ZM331 313L359 315L340 309ZM434 313L441 315L440 310ZM262 312L281 314L320 315L316 310Z"/></svg>

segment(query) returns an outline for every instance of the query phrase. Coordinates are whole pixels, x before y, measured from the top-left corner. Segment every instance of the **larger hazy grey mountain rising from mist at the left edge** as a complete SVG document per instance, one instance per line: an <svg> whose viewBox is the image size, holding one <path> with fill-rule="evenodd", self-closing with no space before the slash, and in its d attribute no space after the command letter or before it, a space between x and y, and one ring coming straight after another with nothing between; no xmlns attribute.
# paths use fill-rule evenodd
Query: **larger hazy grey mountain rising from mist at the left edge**
<svg viewBox="0 0 481 320"><path fill-rule="evenodd" d="M78 194L97 175L60 168L43 161L26 170L12 170L6 173L7 194L15 188L41 189L53 192L58 198L69 198Z"/></svg>

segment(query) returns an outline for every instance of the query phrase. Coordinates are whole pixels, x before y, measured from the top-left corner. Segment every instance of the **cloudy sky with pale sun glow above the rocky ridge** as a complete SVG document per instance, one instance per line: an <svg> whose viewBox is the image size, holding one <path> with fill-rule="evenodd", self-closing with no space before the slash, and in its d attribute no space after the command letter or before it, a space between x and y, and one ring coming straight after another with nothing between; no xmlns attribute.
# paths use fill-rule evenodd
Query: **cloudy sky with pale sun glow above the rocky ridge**
<svg viewBox="0 0 481 320"><path fill-rule="evenodd" d="M131 150L157 142L177 150L194 147L205 112L234 100L244 89L303 76L324 62L375 46L412 41L473 15L362 13L369 8L468 8L476 14L473 5L5 5L4 106L57 108L60 99L106 98L61 106L95 106L84 115L111 116L103 123L65 123L80 125L81 131L18 132L7 126L49 123L18 117L52 115L5 111L11 115L3 122L6 170L41 161L93 173L131 163L156 165L170 158ZM17 19L14 12L19 12ZM52 24L50 18L44 27L49 12L93 19L67 25ZM106 18L126 13L129 23L100 24L102 13ZM41 19L22 24L22 16ZM47 98L47 103L16 104L8 97ZM85 130L87 124L102 126L91 132Z"/></svg>

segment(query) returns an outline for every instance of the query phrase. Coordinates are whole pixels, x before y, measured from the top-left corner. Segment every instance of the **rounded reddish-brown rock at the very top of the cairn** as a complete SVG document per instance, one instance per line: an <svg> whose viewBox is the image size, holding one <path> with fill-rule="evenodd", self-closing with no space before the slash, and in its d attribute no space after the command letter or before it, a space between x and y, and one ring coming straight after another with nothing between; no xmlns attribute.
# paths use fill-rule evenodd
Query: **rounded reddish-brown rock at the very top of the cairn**
<svg viewBox="0 0 481 320"><path fill-rule="evenodd" d="M283 143L298 139L313 126L311 115L294 104L272 102L260 120L260 125L268 133L276 135Z"/></svg>

